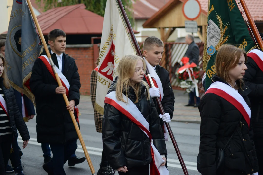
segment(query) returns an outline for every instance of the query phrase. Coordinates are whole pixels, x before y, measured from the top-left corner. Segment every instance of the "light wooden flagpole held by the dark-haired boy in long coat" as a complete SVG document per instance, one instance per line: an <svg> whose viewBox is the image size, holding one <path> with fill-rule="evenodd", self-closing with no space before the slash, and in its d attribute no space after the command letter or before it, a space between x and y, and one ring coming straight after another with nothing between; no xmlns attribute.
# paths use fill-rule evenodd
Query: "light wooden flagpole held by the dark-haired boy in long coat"
<svg viewBox="0 0 263 175"><path fill-rule="evenodd" d="M62 83L61 83L61 81L60 81L60 78L59 78L59 76L58 76L58 72L57 72L57 70L56 70L56 68L55 68L55 65L54 65L54 63L53 63L53 61L52 61L52 59L51 59L51 55L50 55L50 53L49 53L49 50L48 50L48 47L47 47L47 43L46 43L46 41L45 41L45 39L44 39L44 35L43 35L42 30L41 30L41 28L40 28L40 26L39 26L39 23L38 23L36 14L34 13L34 10L33 10L33 7L32 7L32 4L31 4L30 0L27 0L27 3L28 3L28 7L29 7L29 9L30 9L30 11L31 11L31 14L32 14L32 16L33 16L33 18L34 18L34 21L35 21L35 24L36 24L36 26L37 26L37 30L38 30L40 39L41 39L42 44L43 44L43 46L44 46L44 49L45 49L45 51L46 51L46 53L47 53L47 57L48 57L48 59L49 59L50 65L51 65L51 67L52 67L52 69L53 69L53 72L54 72L54 74L55 74L55 77L56 77L56 79L57 79L58 85L59 85L59 86L63 86ZM63 98L64 98L64 100L65 100L66 105L69 105L68 97L67 97L66 94L63 94ZM95 170L94 170L94 167L93 167L92 162L91 162L90 157L89 157L89 153L88 153L88 151L87 151L87 148L86 148L85 143L84 143L84 141L83 141L82 135L81 135L81 133L80 133L80 130L79 130L77 121L76 121L76 119L75 119L74 113L73 113L73 111L69 111L69 113L70 113L71 119L72 119L72 121L73 121L73 124L74 124L74 126L75 126L75 129L76 129L76 131L77 131L77 134L78 134L79 141L80 141L80 143L81 143L82 149L83 149L84 154L85 154L85 156L86 156L86 159L87 159L87 161L88 161L90 171L91 171L92 175L96 175Z"/></svg>

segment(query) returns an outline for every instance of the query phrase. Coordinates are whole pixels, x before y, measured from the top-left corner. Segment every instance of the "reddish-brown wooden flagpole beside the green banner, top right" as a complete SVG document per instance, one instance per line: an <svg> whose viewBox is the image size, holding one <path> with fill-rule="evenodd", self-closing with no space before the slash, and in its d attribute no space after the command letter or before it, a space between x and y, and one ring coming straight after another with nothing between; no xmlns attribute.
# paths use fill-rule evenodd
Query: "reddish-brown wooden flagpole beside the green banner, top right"
<svg viewBox="0 0 263 175"><path fill-rule="evenodd" d="M259 34L259 31L257 30L256 24L249 12L249 9L247 8L245 0L240 0L240 3L245 11L245 14L247 16L247 19L249 20L249 24L251 25L251 29L257 39L257 44L259 44L260 49L263 51L263 41L261 39L261 36Z"/></svg>

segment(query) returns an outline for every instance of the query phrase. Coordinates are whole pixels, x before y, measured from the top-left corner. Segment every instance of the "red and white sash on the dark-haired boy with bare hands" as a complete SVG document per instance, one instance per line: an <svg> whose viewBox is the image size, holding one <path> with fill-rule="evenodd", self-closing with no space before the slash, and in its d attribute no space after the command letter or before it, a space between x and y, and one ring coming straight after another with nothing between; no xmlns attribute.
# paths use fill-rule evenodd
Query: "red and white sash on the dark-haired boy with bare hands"
<svg viewBox="0 0 263 175"><path fill-rule="evenodd" d="M54 74L54 72L53 72L53 70L52 70L52 67L51 67L51 64L50 64L50 62L49 62L48 57L47 57L46 55L42 55L42 56L40 56L39 58L43 61L43 63L44 63L45 66L47 67L48 71L49 71L49 72L51 73L51 75L55 78L55 80L57 80L56 77L55 77L55 74ZM68 79L63 75L63 73L59 70L59 68L58 68L56 65L54 65L54 66L55 66L55 68L57 69L57 72L58 72L58 76L59 76L59 78L60 78L60 81L61 81L62 85L65 87L65 89L66 89L66 95L68 96L68 95L69 95L69 87L70 87L69 82L68 82ZM74 112L76 112L77 117L78 117L78 115L79 115L79 110L78 110L77 106L75 106ZM77 118L77 121L78 121L78 118Z"/></svg>

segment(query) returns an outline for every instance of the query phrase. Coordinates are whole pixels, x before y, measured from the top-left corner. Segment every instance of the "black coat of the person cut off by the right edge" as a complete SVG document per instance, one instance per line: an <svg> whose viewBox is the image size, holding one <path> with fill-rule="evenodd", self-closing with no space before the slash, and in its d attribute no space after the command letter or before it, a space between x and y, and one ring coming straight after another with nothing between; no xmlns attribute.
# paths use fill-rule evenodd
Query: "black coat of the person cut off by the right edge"
<svg viewBox="0 0 263 175"><path fill-rule="evenodd" d="M251 102L251 122L255 136L263 137L263 72L251 57L247 57L247 70L244 76L251 89L248 95Z"/></svg>

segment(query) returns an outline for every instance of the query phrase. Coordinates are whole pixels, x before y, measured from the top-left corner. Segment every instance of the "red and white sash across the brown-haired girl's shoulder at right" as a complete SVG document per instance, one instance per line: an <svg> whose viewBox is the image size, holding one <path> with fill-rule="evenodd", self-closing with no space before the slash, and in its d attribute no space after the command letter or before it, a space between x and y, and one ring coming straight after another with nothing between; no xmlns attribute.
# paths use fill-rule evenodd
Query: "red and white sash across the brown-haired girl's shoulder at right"
<svg viewBox="0 0 263 175"><path fill-rule="evenodd" d="M232 87L230 87L225 83L217 81L210 85L210 87L205 92L205 94L207 93L214 93L224 98L232 105L234 105L239 110L239 112L243 115L248 126L250 126L251 110L247 105L247 103L245 102L244 98L235 89L233 89Z"/></svg>

